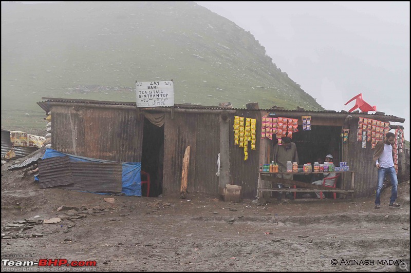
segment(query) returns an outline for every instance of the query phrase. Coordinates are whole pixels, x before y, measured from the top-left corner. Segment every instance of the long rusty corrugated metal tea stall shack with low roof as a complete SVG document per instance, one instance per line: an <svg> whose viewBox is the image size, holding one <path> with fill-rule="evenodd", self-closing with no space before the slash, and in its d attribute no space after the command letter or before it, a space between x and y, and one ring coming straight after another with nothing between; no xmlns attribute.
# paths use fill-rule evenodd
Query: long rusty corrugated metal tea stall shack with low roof
<svg viewBox="0 0 411 273"><path fill-rule="evenodd" d="M334 162L347 162L356 171L356 196L370 196L377 181L371 163L371 145L361 148L357 141L360 116L384 122L404 122L392 115L347 113L336 111L305 111L272 109L225 109L216 106L175 105L174 107L136 108L131 102L43 98L39 102L46 113L51 112L52 148L65 153L103 160L141 162L142 170L151 174L154 190L178 194L184 151L190 146L188 175L189 193L217 196L218 187L226 183L242 186L244 198L257 194L259 164L268 163L274 141L260 139L261 120L268 112L276 116L298 119L293 134L299 164L313 162L332 153ZM378 112L377 112L378 113ZM162 115L164 126L148 121L150 114ZM234 116L256 119L256 150L234 145ZM310 115L311 131L302 130L301 116ZM350 129L347 143L342 142L341 129ZM315 153L315 158L314 158ZM217 159L220 154L220 172ZM349 183L346 175L342 187ZM153 192L153 193L152 193Z"/></svg>

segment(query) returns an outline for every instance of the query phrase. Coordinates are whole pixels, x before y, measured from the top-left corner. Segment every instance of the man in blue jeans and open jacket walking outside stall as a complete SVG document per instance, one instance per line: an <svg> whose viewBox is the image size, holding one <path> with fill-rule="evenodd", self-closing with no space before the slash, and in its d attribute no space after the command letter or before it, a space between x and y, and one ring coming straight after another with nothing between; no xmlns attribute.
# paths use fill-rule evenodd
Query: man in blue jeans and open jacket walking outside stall
<svg viewBox="0 0 411 273"><path fill-rule="evenodd" d="M399 207L400 204L396 203L397 199L397 173L394 168L394 140L395 134L388 132L385 135L385 140L380 140L377 142L374 155L372 157L372 162L376 164L378 168L378 184L377 184L377 194L376 194L376 208L380 208L380 196L382 190L382 184L384 182L385 175L388 174L391 180L391 198L389 200L389 206Z"/></svg>

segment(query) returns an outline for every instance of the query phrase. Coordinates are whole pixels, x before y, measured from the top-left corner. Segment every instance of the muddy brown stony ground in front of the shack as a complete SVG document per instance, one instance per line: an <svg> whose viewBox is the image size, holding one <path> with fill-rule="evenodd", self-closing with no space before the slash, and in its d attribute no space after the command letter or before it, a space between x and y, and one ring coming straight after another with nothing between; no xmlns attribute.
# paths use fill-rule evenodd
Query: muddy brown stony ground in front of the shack
<svg viewBox="0 0 411 273"><path fill-rule="evenodd" d="M409 261L409 181L399 184L400 208L388 206L390 188L381 209L374 197L261 205L40 189L11 164L2 166L2 271L395 271L396 260ZM62 221L44 223L55 217Z"/></svg>

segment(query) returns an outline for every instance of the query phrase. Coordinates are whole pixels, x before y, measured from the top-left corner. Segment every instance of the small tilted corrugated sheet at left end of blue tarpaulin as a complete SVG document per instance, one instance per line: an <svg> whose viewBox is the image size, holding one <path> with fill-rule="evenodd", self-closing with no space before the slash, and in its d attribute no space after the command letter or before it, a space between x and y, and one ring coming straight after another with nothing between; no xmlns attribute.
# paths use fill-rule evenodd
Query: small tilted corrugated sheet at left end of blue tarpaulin
<svg viewBox="0 0 411 273"><path fill-rule="evenodd" d="M72 184L74 181L69 157L39 160L39 179L40 188Z"/></svg>

